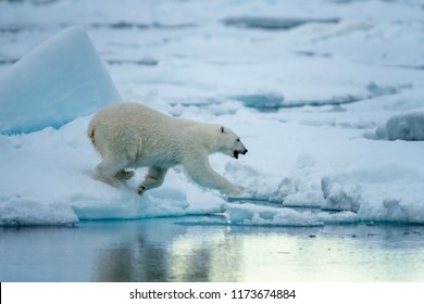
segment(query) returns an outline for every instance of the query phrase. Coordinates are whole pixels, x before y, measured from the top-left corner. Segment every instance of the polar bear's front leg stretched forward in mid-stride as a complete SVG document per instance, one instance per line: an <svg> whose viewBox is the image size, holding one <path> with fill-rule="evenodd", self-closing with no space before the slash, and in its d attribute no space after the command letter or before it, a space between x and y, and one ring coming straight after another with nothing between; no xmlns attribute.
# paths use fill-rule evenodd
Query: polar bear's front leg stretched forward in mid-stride
<svg viewBox="0 0 424 304"><path fill-rule="evenodd" d="M186 174L199 186L219 190L222 194L238 197L244 188L232 183L223 176L214 172L208 160L208 155L194 157L183 163Z"/></svg>

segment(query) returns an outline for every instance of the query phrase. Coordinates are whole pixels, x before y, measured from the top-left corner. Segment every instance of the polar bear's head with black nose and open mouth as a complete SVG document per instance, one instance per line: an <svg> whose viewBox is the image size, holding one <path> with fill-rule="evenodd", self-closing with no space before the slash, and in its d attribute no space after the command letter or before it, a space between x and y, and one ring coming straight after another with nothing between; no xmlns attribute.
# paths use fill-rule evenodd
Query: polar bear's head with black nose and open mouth
<svg viewBox="0 0 424 304"><path fill-rule="evenodd" d="M227 127L219 126L216 150L223 154L238 159L239 154L246 154L248 150L240 138Z"/></svg>

